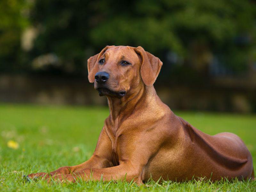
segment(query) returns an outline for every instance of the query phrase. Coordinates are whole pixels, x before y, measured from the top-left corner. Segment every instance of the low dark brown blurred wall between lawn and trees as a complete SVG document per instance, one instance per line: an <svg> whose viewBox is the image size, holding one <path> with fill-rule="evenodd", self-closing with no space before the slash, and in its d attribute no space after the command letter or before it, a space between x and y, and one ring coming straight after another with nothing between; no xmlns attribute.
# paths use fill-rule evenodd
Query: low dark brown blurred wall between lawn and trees
<svg viewBox="0 0 256 192"><path fill-rule="evenodd" d="M209 87L165 86L156 82L159 97L171 109L255 112L255 85L216 80ZM223 82L229 82L223 83ZM230 83L231 82L231 83ZM255 82L254 82L255 83ZM54 105L107 105L86 77L0 76L0 101Z"/></svg>

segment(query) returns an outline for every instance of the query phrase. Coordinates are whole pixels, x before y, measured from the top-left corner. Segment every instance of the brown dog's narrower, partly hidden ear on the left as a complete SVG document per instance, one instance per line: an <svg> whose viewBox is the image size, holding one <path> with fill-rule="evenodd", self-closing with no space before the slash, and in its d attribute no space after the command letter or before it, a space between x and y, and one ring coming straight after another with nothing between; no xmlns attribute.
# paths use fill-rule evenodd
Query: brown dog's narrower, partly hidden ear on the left
<svg viewBox="0 0 256 192"><path fill-rule="evenodd" d="M105 52L107 51L108 48L113 47L112 46L106 46L104 49L101 50L100 53L98 53L97 55L94 55L92 57L90 57L87 60L87 68L88 68L88 79L90 83L94 82L94 76L95 74L99 71L99 65L98 65L98 58Z"/></svg>

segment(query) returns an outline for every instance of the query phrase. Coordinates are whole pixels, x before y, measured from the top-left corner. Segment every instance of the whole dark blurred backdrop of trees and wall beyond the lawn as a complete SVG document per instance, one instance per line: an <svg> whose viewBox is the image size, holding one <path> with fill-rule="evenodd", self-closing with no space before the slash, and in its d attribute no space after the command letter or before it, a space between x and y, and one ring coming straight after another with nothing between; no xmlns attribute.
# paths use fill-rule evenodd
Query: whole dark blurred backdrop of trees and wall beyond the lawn
<svg viewBox="0 0 256 192"><path fill-rule="evenodd" d="M107 105L87 79L106 45L159 57L174 110L256 112L252 0L1 0L0 102Z"/></svg>

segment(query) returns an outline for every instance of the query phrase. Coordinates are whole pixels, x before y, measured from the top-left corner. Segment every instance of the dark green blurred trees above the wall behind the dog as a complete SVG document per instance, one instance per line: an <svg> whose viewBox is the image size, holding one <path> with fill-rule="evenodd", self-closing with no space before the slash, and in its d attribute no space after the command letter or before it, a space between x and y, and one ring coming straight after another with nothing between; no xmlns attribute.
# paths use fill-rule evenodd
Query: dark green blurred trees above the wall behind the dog
<svg viewBox="0 0 256 192"><path fill-rule="evenodd" d="M3 10L7 2L0 5ZM11 9L12 26L19 30L2 29L0 41L10 45L1 58L14 53L17 58L24 27L20 10L26 3L13 2L19 6ZM248 60L255 61L255 10L252 1L241 0L35 0L29 18L37 37L21 62L79 74L86 72L87 58L107 44L140 45L167 64L166 77L171 71L177 76L193 70L207 74L216 56L232 71L243 71ZM0 14L8 18L9 12Z"/></svg>

